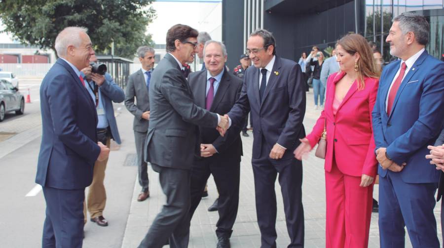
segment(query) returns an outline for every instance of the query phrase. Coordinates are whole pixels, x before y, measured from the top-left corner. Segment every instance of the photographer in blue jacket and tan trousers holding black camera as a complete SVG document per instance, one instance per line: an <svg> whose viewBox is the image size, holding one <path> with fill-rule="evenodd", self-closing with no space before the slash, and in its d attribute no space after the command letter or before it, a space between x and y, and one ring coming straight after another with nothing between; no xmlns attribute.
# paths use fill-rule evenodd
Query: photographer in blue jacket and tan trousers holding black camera
<svg viewBox="0 0 444 248"><path fill-rule="evenodd" d="M111 138L120 144L120 136L114 117L112 102L120 103L125 99L123 90L114 83L111 75L107 73L105 64L98 64L96 55L91 55L91 65L81 70L85 82L85 88L91 95L97 110L97 139L110 148ZM86 224L86 207L91 216L91 221L99 226L108 226L108 221L103 217L107 195L105 192L105 168L108 159L97 161L94 165L93 181L89 186L89 193L85 199L83 214Z"/></svg>

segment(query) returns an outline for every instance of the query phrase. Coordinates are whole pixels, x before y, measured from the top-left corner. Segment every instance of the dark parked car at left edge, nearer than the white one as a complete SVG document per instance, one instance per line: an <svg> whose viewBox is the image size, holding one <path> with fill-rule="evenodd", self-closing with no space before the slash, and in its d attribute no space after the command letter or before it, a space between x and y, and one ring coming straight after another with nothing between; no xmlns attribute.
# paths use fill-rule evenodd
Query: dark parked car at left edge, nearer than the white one
<svg viewBox="0 0 444 248"><path fill-rule="evenodd" d="M12 83L0 79L0 122L7 112L15 111L16 115L23 115L24 110L25 97L22 93Z"/></svg>

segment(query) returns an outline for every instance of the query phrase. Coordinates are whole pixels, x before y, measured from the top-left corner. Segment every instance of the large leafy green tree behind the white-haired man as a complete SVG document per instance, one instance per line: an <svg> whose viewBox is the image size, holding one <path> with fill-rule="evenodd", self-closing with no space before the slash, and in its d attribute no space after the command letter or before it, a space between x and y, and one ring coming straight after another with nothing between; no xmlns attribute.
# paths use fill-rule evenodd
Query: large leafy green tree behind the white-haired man
<svg viewBox="0 0 444 248"><path fill-rule="evenodd" d="M155 18L153 0L0 0L0 18L18 41L54 49L57 34L68 26L88 28L97 53L132 58Z"/></svg>

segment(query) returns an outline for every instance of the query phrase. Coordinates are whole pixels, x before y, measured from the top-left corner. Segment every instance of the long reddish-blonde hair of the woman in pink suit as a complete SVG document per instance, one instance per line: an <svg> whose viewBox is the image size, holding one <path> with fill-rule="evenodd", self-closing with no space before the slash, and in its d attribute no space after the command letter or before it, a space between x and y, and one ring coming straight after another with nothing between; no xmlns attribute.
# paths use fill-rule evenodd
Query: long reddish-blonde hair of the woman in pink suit
<svg viewBox="0 0 444 248"><path fill-rule="evenodd" d="M360 55L360 59L357 62L358 90L364 89L364 78L379 78L380 72L376 68L373 51L370 48L369 42L362 35L345 35L337 41L337 45L340 45L350 55L355 55L355 53Z"/></svg>

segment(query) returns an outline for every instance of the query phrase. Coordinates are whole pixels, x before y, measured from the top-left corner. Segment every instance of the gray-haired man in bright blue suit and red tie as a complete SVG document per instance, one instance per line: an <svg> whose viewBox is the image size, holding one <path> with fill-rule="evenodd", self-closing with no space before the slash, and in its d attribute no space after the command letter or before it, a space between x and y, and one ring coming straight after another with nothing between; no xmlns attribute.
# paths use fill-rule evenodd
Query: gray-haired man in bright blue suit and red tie
<svg viewBox="0 0 444 248"><path fill-rule="evenodd" d="M444 63L424 49L429 30L423 16L406 12L386 39L400 60L384 68L372 113L381 248L404 247L405 226L413 247L440 246L433 213L440 173L425 154L442 127Z"/></svg>

